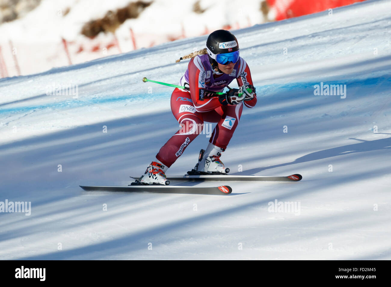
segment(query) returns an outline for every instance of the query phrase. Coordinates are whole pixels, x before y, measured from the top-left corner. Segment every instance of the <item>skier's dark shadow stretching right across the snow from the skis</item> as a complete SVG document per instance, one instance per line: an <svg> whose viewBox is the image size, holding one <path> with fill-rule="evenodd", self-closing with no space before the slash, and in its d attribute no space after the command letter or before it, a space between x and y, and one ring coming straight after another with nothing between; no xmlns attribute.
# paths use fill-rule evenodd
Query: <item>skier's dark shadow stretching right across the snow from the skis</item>
<svg viewBox="0 0 391 287"><path fill-rule="evenodd" d="M378 134L386 134L386 133L378 133ZM336 157L339 155L348 155L350 153L360 153L360 152L370 152L373 150L391 149L391 137L388 137L386 139L376 139L374 141L356 139L355 137L349 139L361 141L361 143L348 144L346 146L339 146L337 148L329 148L327 150L321 150L319 152L308 153L308 155L299 157L298 159L292 162L287 162L284 164L276 164L274 166L248 169L246 171L240 172L240 174L253 175L265 169L278 168L280 166L289 166L291 164L298 164L302 162L309 162L312 160L326 159L329 157Z"/></svg>

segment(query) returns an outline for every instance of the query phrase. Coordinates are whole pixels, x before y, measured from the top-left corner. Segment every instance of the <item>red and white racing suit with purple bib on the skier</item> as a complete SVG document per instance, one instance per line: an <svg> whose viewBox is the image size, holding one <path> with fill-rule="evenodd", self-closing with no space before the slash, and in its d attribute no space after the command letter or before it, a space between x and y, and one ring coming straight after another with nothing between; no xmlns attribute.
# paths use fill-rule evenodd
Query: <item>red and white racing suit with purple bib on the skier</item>
<svg viewBox="0 0 391 287"><path fill-rule="evenodd" d="M256 95L250 101L243 101L239 105L223 105L219 96L212 92L221 92L233 79L238 86L253 84L250 69L241 57L235 64L231 74L215 74L210 65L208 55L196 56L188 64L185 75L181 78L181 85L190 86L190 91L176 88L171 95L171 111L178 120L181 128L165 143L156 159L170 167L186 147L199 134L210 136L209 142L226 149L235 132L242 114L243 103L252 108L256 104ZM204 121L217 123L210 135Z"/></svg>

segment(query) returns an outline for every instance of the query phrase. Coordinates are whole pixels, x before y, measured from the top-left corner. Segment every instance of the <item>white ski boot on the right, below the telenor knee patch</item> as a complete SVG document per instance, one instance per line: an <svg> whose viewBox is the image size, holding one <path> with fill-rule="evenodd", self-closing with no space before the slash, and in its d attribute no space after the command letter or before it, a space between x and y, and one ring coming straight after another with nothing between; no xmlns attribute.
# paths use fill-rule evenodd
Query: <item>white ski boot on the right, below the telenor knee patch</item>
<svg viewBox="0 0 391 287"><path fill-rule="evenodd" d="M230 172L230 169L225 167L220 160L221 153L224 152L223 148L219 148L213 144L209 144L208 148L201 150L198 157L198 163L195 168L192 169L194 175L207 175L207 174L226 174ZM190 174L190 173L188 173Z"/></svg>

